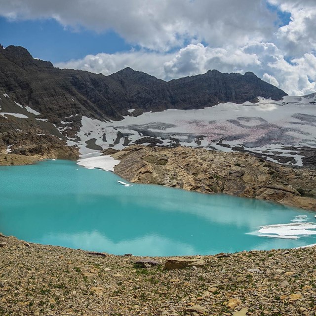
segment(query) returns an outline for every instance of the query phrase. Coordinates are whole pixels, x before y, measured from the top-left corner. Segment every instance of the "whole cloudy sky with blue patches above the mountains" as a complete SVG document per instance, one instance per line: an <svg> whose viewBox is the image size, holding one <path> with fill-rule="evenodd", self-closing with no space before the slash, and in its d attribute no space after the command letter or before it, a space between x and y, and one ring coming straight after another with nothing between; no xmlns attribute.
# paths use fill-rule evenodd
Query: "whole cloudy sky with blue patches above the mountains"
<svg viewBox="0 0 316 316"><path fill-rule="evenodd" d="M0 44L97 74L251 71L316 92L316 0L0 0Z"/></svg>

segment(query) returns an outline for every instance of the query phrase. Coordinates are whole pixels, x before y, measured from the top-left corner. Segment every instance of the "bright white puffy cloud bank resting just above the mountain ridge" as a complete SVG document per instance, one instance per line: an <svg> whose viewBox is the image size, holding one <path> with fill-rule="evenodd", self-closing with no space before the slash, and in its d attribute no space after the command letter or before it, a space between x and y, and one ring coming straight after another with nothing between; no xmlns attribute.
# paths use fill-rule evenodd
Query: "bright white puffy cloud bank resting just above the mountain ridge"
<svg viewBox="0 0 316 316"><path fill-rule="evenodd" d="M55 66L104 75L129 66L165 80L197 75L209 69L238 73L252 71L290 95L305 95L316 91L316 57L305 54L288 62L273 43L253 42L240 48L211 48L197 43L173 53L145 50L101 53Z"/></svg>

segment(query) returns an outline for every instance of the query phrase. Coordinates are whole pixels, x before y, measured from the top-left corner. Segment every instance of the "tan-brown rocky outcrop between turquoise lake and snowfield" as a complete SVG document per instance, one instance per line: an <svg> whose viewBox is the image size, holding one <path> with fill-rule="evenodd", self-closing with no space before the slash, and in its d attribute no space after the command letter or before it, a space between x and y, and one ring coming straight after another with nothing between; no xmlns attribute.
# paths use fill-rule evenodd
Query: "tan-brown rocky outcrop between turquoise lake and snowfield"
<svg viewBox="0 0 316 316"><path fill-rule="evenodd" d="M128 181L202 193L254 197L316 210L316 171L278 165L243 153L185 147L130 146L112 155Z"/></svg>

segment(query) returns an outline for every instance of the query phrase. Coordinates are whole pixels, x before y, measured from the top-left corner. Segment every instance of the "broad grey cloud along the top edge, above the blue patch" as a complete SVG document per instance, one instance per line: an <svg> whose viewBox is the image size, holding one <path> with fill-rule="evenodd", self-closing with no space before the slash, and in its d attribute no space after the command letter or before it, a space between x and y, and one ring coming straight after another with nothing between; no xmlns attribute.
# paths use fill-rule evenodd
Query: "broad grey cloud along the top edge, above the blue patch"
<svg viewBox="0 0 316 316"><path fill-rule="evenodd" d="M276 20L264 0L0 0L0 15L113 29L130 43L163 51L192 40L214 47L264 39Z"/></svg>

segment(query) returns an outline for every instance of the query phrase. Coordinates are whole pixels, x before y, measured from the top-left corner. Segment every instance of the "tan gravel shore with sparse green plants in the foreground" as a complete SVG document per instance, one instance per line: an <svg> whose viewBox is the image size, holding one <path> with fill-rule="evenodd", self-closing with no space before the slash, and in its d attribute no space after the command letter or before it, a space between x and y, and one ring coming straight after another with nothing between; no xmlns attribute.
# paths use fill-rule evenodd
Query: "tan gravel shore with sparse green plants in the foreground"
<svg viewBox="0 0 316 316"><path fill-rule="evenodd" d="M205 267L137 268L141 257L0 235L0 315L316 315L315 246L190 258Z"/></svg>

